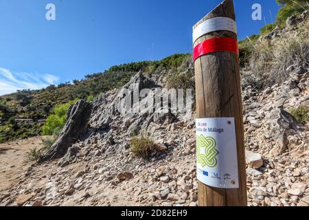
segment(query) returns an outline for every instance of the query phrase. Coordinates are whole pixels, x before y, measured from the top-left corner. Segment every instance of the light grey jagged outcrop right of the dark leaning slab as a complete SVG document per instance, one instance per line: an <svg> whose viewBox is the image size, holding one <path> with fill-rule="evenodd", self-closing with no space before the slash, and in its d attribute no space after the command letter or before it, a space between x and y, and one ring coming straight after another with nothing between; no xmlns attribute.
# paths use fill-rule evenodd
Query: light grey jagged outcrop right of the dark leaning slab
<svg viewBox="0 0 309 220"><path fill-rule="evenodd" d="M175 121L176 115L170 109L167 109L167 113L150 111L154 110L154 106L148 104L148 100L155 100L155 91L160 88L139 72L121 89L114 89L95 100L84 144L93 144L102 153L122 153L128 149L133 135ZM150 94L140 97L143 89L148 89ZM166 95L160 94L162 97ZM141 106L144 109L140 109ZM157 135L156 132L151 133ZM82 148L82 153L86 154L89 150Z"/></svg>

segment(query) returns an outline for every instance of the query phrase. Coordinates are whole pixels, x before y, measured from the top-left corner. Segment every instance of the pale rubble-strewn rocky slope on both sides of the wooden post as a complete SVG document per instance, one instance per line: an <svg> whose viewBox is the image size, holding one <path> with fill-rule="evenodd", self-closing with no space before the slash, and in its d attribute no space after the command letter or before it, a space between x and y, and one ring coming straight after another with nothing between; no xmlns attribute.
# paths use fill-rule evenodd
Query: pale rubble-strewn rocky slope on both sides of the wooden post
<svg viewBox="0 0 309 220"><path fill-rule="evenodd" d="M295 47L281 69L273 62L265 63L265 69L260 65L265 58L286 54L276 45L303 33L306 14L260 37L253 46L268 42L268 49L255 50L258 54L249 56L242 68L249 206L309 206L307 51ZM302 42L301 48L306 47ZM266 57L273 48L278 50ZM141 71L93 102L76 102L58 140L39 163L24 173L16 173L20 167L0 170L13 179L10 186L0 186L0 205L197 206L194 113L122 113L118 108L126 98L122 89L132 94L135 89L190 88L193 69L192 60L185 60L152 74ZM278 72L275 80L269 69ZM132 104L134 109L137 100ZM150 146L148 159L133 151L138 141Z"/></svg>

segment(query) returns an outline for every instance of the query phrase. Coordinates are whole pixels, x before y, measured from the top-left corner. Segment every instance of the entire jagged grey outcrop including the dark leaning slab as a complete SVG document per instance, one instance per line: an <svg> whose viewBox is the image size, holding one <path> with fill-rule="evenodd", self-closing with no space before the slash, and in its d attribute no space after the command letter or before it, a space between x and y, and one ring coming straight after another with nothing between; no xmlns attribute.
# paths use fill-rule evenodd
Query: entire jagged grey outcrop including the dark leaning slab
<svg viewBox="0 0 309 220"><path fill-rule="evenodd" d="M89 156L87 160L92 155L89 151L95 156L106 152L122 153L128 149L133 135L176 121L171 109L166 109L166 113L150 111L154 106L147 104L147 98L155 100L157 88L160 86L139 72L124 87L109 91L91 104L78 101L69 109L68 120L60 137L39 163L65 156L58 165L66 166L79 151ZM142 89L152 91L152 96L139 97ZM145 106L143 111L139 109L141 105ZM151 133L157 135L155 131Z"/></svg>

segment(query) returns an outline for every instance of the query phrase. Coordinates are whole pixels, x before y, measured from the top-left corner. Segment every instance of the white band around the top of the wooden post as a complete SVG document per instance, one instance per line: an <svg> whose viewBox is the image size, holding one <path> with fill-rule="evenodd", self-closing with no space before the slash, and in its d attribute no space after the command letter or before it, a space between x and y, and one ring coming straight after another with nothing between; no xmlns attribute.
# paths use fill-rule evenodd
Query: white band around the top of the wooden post
<svg viewBox="0 0 309 220"><path fill-rule="evenodd" d="M237 34L236 21L227 17L209 19L193 30L193 43L201 36L218 30L227 30Z"/></svg>

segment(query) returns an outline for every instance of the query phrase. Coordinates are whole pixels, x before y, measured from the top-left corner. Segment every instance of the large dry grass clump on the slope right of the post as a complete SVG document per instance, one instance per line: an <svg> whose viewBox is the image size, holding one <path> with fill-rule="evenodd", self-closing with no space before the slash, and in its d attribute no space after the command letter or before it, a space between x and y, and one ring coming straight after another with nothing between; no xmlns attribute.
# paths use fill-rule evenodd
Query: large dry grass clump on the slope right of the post
<svg viewBox="0 0 309 220"><path fill-rule="evenodd" d="M285 32L271 41L257 41L251 50L250 69L262 85L282 83L290 74L286 70L290 65L309 61L309 21L299 25L297 32Z"/></svg>

